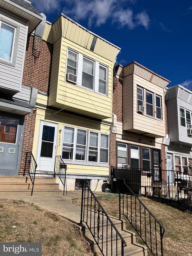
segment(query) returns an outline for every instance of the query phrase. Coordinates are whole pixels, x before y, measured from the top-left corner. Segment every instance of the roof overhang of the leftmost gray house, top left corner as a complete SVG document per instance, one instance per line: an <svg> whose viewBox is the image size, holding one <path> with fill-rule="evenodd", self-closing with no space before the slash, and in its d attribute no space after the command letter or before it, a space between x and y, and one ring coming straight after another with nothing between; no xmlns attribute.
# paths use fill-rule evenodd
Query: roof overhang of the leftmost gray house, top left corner
<svg viewBox="0 0 192 256"><path fill-rule="evenodd" d="M32 12L27 8L20 6L17 3L12 2L10 0L1 0L0 7L7 11L10 11L13 14L16 14L17 16L25 20L28 20L29 21L28 34L31 34L34 31L34 29L39 25L39 23L43 20L43 17L41 16L41 14L38 14L37 11L36 13Z"/></svg>

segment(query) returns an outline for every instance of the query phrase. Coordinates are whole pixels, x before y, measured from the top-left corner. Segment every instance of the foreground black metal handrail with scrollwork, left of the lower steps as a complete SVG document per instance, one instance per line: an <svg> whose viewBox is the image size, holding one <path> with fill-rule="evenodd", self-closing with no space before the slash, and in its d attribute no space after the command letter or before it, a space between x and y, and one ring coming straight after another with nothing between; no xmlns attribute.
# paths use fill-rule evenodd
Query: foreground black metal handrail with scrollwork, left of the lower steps
<svg viewBox="0 0 192 256"><path fill-rule="evenodd" d="M124 255L127 243L107 215L98 199L82 180L81 219L94 238L102 255ZM104 228L105 227L105 228Z"/></svg>

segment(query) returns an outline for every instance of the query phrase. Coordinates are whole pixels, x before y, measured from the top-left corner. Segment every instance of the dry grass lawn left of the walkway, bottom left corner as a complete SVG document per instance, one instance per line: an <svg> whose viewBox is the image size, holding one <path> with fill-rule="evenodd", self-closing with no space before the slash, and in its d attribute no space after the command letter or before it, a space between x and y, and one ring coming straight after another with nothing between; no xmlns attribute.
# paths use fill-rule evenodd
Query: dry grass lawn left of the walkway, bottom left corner
<svg viewBox="0 0 192 256"><path fill-rule="evenodd" d="M0 242L42 242L44 256L94 255L76 225L22 200L0 198Z"/></svg>

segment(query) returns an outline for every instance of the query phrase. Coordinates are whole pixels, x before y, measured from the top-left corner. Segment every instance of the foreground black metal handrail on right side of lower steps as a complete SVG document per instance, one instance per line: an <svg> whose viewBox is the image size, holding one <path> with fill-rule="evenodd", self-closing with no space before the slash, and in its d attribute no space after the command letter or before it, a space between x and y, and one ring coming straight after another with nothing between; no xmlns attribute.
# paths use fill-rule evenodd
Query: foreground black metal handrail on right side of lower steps
<svg viewBox="0 0 192 256"><path fill-rule="evenodd" d="M118 179L118 182L119 188L121 187L122 191L126 190L126 193L122 193L123 196L119 193L119 219L121 219L121 215L125 216L152 255L163 256L164 227L128 187L125 179ZM121 212L121 208L123 212ZM161 248L158 246L159 242Z"/></svg>

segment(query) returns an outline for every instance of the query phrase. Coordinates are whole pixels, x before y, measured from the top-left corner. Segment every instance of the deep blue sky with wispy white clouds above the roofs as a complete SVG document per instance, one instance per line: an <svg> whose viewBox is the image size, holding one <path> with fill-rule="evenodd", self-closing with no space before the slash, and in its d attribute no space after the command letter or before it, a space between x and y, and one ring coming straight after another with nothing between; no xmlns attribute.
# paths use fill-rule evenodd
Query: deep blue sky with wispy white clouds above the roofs
<svg viewBox="0 0 192 256"><path fill-rule="evenodd" d="M191 0L31 0L54 22L65 14L121 48L117 63L139 62L192 91Z"/></svg>

